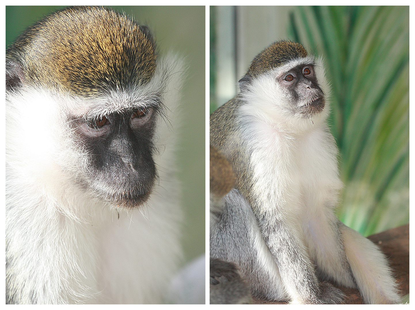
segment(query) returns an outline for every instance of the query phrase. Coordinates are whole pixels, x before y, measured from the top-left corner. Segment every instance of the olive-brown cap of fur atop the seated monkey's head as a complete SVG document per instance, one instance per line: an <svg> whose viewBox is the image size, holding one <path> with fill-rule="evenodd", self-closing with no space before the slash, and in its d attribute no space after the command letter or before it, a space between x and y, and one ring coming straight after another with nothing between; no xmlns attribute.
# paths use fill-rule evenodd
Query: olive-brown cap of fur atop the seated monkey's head
<svg viewBox="0 0 415 310"><path fill-rule="evenodd" d="M255 56L247 75L258 77L272 68L280 67L291 60L307 57L307 51L300 43L278 41L272 43Z"/></svg>

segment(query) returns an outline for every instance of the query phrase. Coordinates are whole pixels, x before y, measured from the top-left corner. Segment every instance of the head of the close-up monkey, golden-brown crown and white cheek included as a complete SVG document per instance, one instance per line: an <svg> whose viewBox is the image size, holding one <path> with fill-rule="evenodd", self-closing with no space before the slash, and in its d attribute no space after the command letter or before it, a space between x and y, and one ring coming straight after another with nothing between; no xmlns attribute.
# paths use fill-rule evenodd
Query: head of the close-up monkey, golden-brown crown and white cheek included
<svg viewBox="0 0 415 310"><path fill-rule="evenodd" d="M6 97L9 128L36 120L20 138L33 144L27 160L42 167L39 182L54 169L115 207L146 202L166 142L158 132L169 124L173 67L149 29L103 7L67 8L29 27L6 53Z"/></svg>

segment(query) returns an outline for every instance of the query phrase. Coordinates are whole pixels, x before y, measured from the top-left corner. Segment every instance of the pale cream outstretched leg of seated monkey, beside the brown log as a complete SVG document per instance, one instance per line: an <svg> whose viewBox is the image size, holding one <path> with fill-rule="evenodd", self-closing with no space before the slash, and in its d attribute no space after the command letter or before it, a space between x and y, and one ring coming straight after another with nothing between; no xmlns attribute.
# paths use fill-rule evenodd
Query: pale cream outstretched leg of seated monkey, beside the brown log
<svg viewBox="0 0 415 310"><path fill-rule="evenodd" d="M342 224L340 229L347 260L365 302L399 303L397 284L381 250L352 228Z"/></svg>

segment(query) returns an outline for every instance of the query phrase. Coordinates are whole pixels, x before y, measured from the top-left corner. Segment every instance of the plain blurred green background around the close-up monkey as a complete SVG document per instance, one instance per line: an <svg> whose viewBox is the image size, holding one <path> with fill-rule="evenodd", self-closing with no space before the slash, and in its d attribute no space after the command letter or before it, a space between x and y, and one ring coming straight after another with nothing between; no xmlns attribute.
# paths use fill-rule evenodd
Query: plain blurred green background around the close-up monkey
<svg viewBox="0 0 415 310"><path fill-rule="evenodd" d="M6 6L6 48L15 38L46 14L62 6ZM182 90L183 126L179 146L183 183L183 227L186 261L205 252L205 7L114 6L140 24L149 26L161 53L176 51L189 65Z"/></svg>

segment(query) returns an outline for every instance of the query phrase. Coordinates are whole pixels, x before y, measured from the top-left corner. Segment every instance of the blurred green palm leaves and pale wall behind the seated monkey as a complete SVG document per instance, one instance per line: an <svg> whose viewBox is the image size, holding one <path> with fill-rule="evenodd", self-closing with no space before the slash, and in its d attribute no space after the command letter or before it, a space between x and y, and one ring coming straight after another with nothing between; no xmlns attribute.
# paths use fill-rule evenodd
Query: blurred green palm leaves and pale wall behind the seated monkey
<svg viewBox="0 0 415 310"><path fill-rule="evenodd" d="M325 60L344 191L364 236L409 223L409 7L210 7L210 112L274 41Z"/></svg>

